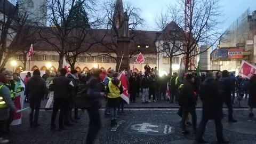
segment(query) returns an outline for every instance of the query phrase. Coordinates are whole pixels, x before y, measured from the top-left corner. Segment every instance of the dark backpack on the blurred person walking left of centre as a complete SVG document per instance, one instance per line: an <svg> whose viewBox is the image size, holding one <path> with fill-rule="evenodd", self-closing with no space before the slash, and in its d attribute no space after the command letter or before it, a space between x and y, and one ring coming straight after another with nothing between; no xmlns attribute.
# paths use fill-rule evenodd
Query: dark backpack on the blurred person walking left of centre
<svg viewBox="0 0 256 144"><path fill-rule="evenodd" d="M89 98L87 97L87 84L79 84L75 94L75 103L78 108L86 109L89 108Z"/></svg>

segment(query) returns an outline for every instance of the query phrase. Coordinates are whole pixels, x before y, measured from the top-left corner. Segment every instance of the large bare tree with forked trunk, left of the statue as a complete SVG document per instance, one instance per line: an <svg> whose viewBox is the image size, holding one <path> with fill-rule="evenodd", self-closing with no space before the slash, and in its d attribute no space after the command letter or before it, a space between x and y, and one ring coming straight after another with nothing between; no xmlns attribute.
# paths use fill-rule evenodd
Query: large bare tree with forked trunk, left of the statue
<svg viewBox="0 0 256 144"><path fill-rule="evenodd" d="M66 1L66 0L49 0L47 1L47 10L49 13L45 16L49 21L50 27L41 29L39 36L43 41L49 43L59 53L59 69L62 68L63 57L66 55L71 68L74 69L78 54L86 52L98 41L95 35L90 33L91 27L99 26L100 20L93 17L93 21L89 21L90 15L96 11L97 1ZM80 9L86 11L88 18L86 26L76 25L75 16ZM79 9L79 10L78 10Z"/></svg>

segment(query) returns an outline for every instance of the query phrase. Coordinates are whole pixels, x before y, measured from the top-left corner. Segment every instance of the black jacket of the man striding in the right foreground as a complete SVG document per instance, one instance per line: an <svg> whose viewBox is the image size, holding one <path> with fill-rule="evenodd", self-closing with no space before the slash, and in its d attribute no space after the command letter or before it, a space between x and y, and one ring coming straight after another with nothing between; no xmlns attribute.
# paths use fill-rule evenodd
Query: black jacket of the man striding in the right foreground
<svg viewBox="0 0 256 144"><path fill-rule="evenodd" d="M222 117L222 98L219 94L218 82L213 78L206 78L200 85L199 95L203 102L202 117L220 119Z"/></svg>

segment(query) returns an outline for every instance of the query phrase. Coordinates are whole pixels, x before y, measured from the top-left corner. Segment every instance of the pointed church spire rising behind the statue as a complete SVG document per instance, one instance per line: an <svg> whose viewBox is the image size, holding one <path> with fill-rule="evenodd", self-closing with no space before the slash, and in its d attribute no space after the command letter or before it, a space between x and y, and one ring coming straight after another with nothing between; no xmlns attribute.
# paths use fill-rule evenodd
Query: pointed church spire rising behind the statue
<svg viewBox="0 0 256 144"><path fill-rule="evenodd" d="M113 24L116 25L117 29L120 29L121 23L124 20L124 7L122 0L116 0L115 11L113 15Z"/></svg>

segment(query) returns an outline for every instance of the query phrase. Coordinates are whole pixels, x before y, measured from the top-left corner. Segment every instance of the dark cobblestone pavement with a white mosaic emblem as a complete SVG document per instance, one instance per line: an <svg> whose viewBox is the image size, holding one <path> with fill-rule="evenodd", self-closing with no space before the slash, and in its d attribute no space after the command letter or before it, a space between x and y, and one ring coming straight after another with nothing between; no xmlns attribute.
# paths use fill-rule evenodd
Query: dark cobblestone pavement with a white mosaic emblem
<svg viewBox="0 0 256 144"><path fill-rule="evenodd" d="M110 127L109 117L105 117L103 109L102 129L95 143L193 143L195 134L181 135L180 117L177 108L125 108L125 113L118 113L116 127ZM201 108L197 108L197 123L201 119ZM224 113L227 114L225 108ZM89 119L85 111L79 111L76 123L66 130L50 130L52 111L41 110L39 123L41 126L30 128L28 115L23 115L22 124L11 127L11 134L4 135L10 143L84 143ZM234 118L238 123L228 123L223 118L223 135L231 143L256 143L256 118L248 116L247 108L235 108ZM213 121L206 126L204 139L216 143ZM191 131L191 126L188 126Z"/></svg>

